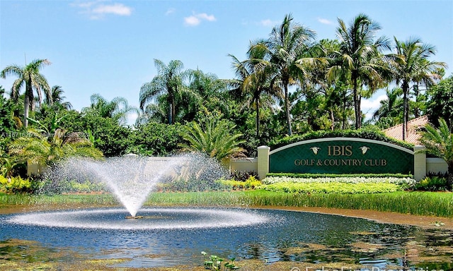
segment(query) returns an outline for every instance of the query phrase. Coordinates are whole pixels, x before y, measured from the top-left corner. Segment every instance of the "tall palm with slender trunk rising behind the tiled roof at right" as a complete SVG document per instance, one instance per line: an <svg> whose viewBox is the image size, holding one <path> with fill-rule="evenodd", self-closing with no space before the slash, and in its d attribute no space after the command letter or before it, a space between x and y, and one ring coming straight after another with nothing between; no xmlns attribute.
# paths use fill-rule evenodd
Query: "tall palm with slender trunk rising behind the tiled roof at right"
<svg viewBox="0 0 453 271"><path fill-rule="evenodd" d="M440 78L436 73L438 68L446 67L444 62L428 61L430 56L435 55L435 47L423 44L418 38L410 38L401 42L394 37L396 57L391 61L394 69L396 84L401 83L403 90L403 140L406 139L408 122L408 94L411 83L418 88L418 83L429 87L435 84L435 79ZM414 85L414 86L415 86Z"/></svg>

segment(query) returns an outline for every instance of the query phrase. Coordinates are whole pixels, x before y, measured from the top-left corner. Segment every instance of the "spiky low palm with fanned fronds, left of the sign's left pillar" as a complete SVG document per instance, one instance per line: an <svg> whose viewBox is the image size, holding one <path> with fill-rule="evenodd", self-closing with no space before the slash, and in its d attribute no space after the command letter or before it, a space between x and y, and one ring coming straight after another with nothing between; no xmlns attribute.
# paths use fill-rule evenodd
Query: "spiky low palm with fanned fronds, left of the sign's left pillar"
<svg viewBox="0 0 453 271"><path fill-rule="evenodd" d="M195 121L186 124L183 139L183 150L192 150L205 153L221 161L227 157L243 156L244 149L239 147L243 141L239 140L241 133L234 133L235 125L229 121L206 119L200 124Z"/></svg>

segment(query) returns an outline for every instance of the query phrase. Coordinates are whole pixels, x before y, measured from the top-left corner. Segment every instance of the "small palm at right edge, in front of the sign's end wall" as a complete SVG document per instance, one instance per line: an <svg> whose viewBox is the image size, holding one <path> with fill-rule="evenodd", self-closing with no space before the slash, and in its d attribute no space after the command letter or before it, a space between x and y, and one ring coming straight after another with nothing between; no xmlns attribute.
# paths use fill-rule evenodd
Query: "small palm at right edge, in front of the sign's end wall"
<svg viewBox="0 0 453 271"><path fill-rule="evenodd" d="M436 129L431 124L425 126L425 130L421 132L422 143L427 152L440 157L447 162L448 165L448 184L453 186L453 136L445 119L439 119L439 129Z"/></svg>

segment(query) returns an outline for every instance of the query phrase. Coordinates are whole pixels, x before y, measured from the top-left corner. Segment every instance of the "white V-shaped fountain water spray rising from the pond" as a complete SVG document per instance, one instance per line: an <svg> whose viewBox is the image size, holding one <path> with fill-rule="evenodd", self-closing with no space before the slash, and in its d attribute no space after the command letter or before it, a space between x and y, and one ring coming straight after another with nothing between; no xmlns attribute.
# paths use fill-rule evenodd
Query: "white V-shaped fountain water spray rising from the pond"
<svg viewBox="0 0 453 271"><path fill-rule="evenodd" d="M174 157L125 155L105 160L71 158L47 173L52 182L43 191L61 186L64 180L86 180L103 184L130 213L126 218L142 218L137 211L157 183L173 180L186 182L202 178L206 184L226 176L215 159L200 154Z"/></svg>

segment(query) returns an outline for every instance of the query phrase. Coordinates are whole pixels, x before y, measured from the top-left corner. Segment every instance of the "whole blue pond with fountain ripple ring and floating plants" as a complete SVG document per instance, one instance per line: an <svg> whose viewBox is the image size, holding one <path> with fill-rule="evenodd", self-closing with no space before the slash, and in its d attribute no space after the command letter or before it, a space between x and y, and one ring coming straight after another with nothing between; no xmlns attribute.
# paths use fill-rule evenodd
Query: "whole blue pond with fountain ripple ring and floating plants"
<svg viewBox="0 0 453 271"><path fill-rule="evenodd" d="M8 260L127 259L113 267L202 265L201 251L236 260L361 265L361 270L452 270L453 231L311 212L241 208L120 208L0 216L0 266ZM41 258L40 258L41 257ZM374 267L374 269L372 269ZM421 269L420 269L421 268Z"/></svg>

